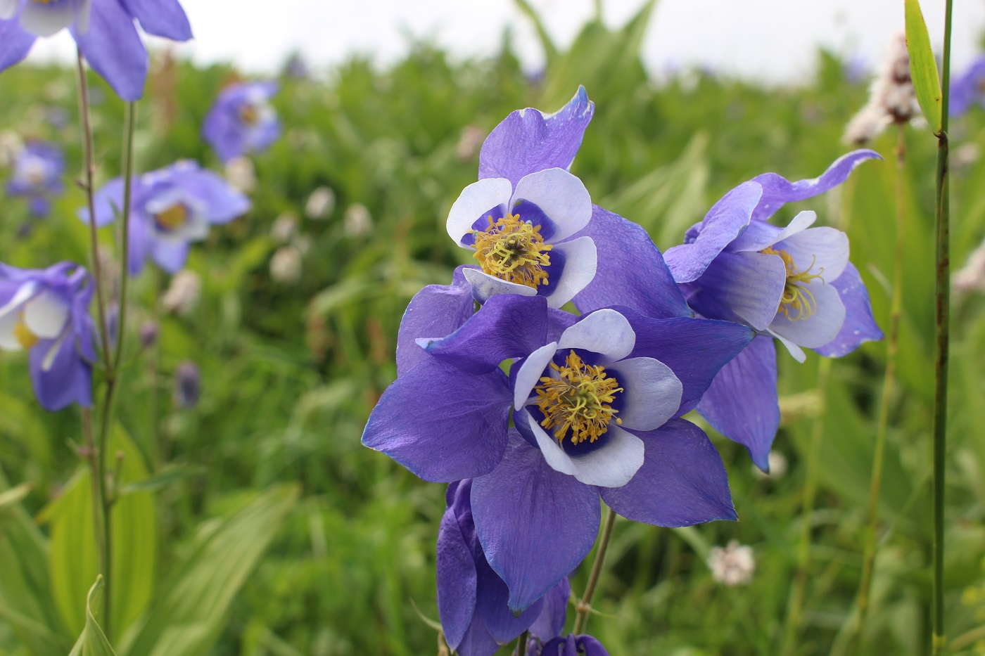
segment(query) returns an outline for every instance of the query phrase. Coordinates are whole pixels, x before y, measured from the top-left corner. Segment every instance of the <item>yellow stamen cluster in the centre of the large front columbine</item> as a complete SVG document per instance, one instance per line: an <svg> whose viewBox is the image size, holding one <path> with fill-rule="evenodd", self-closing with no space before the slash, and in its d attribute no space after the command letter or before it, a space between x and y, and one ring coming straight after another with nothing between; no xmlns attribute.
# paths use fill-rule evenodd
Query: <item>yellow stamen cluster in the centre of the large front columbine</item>
<svg viewBox="0 0 985 656"><path fill-rule="evenodd" d="M594 442L609 430L609 422L616 415L609 405L622 392L616 378L609 376L603 366L592 366L581 361L574 351L564 359L564 366L551 362L558 377L544 376L537 392L537 407L544 413L541 426L554 428L558 444L564 441L568 428L571 443L580 444L586 439ZM616 419L616 424L623 420Z"/></svg>

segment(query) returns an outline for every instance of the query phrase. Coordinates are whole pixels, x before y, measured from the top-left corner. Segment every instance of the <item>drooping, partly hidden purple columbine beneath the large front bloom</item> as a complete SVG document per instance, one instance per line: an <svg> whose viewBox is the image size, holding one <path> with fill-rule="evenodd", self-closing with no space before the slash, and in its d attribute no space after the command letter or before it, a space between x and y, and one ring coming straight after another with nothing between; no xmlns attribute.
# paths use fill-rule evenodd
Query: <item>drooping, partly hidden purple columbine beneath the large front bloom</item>
<svg viewBox="0 0 985 656"><path fill-rule="evenodd" d="M448 486L437 532L437 609L448 646L460 656L493 656L528 628L557 634L571 594L567 579L514 616L506 605L509 590L476 535L471 493L468 479Z"/></svg>

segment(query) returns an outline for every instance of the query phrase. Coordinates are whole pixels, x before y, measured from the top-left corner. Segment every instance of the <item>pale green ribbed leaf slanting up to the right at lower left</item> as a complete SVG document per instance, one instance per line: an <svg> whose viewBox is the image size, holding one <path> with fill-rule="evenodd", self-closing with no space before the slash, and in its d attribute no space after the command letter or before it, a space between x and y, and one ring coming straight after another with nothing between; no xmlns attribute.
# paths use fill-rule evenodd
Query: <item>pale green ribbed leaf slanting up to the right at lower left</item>
<svg viewBox="0 0 985 656"><path fill-rule="evenodd" d="M199 544L170 587L133 631L121 654L208 654L226 625L230 605L295 506L296 486L269 489L230 515L203 524Z"/></svg>

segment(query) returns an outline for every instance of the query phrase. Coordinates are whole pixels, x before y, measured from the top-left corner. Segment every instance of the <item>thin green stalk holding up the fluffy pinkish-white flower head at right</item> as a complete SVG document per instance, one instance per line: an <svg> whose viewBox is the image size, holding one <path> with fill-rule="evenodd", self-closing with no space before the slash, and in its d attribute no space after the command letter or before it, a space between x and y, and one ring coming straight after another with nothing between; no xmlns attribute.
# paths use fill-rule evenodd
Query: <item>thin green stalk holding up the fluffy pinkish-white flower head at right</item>
<svg viewBox="0 0 985 656"><path fill-rule="evenodd" d="M854 654L862 637L862 626L869 611L869 595L872 590L873 566L876 562L876 523L878 519L879 494L883 482L883 460L886 454L886 431L889 425L889 405L892 402L892 388L896 374L896 352L899 340L899 315L903 308L903 172L906 158L904 126L897 123L896 142L896 252L892 267L892 300L889 305L889 326L886 342L886 372L883 377L883 396L880 401L879 418L876 422L876 450L872 461L872 481L869 487L868 523L866 524L864 557L862 560L862 580L856 604L855 626L848 645L848 655Z"/></svg>

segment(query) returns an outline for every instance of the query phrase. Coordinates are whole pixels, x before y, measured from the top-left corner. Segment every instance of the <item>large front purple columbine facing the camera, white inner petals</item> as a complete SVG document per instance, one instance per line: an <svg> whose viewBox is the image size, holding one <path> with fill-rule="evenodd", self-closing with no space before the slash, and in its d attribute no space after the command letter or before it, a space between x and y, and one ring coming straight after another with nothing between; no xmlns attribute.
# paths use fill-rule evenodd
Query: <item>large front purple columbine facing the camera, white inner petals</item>
<svg viewBox="0 0 985 656"><path fill-rule="evenodd" d="M474 479L476 531L514 613L591 550L600 494L660 526L735 518L717 451L680 417L753 331L627 307L567 315L560 330L549 309L494 295L448 337L419 340L428 358L383 393L362 435L427 481ZM511 359L523 360L507 376Z"/></svg>

